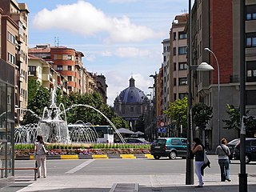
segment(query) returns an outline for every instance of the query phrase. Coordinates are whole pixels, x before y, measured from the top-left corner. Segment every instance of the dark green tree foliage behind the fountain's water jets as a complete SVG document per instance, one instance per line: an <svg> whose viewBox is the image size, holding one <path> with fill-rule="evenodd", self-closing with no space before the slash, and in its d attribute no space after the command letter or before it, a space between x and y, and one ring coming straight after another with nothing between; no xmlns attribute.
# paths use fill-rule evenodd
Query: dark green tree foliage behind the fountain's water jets
<svg viewBox="0 0 256 192"><path fill-rule="evenodd" d="M33 87L36 87L36 84L33 85ZM27 106L28 110L33 111L34 114L37 115L30 112L26 113L23 118L23 125L37 123L39 121L38 117L42 117L44 108L46 106L49 107L51 104L50 96L50 90L47 90L43 86L38 86L37 90L34 91L34 98L31 98ZM71 93L69 95L62 95L60 90L56 90L55 102L57 106L59 106L60 103L63 104L66 109L66 120L68 123L75 123L80 120L85 123L90 122L93 125L110 125L110 122L106 119L109 118L117 128L128 127L128 123L123 120L123 118L119 117L118 114L114 113L114 109L111 106L106 105L103 102L101 95L97 92L94 92L93 94ZM106 118L98 113L98 111L86 107L86 105L101 111ZM64 114L62 114L61 117L62 119L65 119Z"/></svg>

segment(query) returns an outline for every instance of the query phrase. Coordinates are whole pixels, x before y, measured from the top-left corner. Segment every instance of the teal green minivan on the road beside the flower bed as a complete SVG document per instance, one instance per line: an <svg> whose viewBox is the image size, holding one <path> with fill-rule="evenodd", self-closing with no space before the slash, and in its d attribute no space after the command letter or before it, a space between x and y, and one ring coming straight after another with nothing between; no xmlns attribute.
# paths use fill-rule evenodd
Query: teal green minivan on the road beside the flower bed
<svg viewBox="0 0 256 192"><path fill-rule="evenodd" d="M176 157L186 158L186 138L158 138L150 146L150 154L155 159L168 157L174 159Z"/></svg>

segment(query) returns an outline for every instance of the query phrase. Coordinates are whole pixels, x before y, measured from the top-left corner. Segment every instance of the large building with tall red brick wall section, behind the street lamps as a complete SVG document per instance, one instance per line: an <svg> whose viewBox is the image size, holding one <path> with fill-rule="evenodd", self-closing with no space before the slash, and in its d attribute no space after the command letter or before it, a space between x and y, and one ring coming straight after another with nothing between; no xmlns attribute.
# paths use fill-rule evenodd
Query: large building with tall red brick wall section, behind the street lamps
<svg viewBox="0 0 256 192"><path fill-rule="evenodd" d="M194 2L192 9L191 64L208 62L214 67L213 71L198 71L192 75L193 102L203 102L212 106L214 110L213 118L201 135L202 139L206 138L210 142L212 149L218 145L220 138L231 140L237 138L239 132L239 130L223 129L226 125L222 122L224 119L229 119L226 113L227 104L240 106L239 3L238 0L198 0ZM256 2L246 0L245 6L246 110L250 110L250 115L255 115ZM205 48L211 52L206 51Z"/></svg>

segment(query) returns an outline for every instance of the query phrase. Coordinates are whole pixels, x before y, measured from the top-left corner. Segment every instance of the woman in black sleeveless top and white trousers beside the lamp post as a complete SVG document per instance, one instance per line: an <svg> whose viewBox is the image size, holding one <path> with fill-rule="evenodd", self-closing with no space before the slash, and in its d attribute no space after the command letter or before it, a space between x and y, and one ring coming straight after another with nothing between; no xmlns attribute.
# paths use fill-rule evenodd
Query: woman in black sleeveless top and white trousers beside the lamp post
<svg viewBox="0 0 256 192"><path fill-rule="evenodd" d="M195 166L195 173L198 176L199 185L195 187L202 187L202 173L201 167L204 165L204 146L200 141L200 138L194 138L192 153L194 154L194 166Z"/></svg>

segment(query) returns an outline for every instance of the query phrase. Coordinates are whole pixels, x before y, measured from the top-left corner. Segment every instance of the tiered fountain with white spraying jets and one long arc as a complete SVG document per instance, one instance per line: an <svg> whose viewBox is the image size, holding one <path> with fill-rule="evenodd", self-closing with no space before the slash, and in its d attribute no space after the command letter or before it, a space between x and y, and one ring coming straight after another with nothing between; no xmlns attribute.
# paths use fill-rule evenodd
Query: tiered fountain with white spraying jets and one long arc
<svg viewBox="0 0 256 192"><path fill-rule="evenodd" d="M87 125L84 122L76 122L73 125L67 125L66 111L73 109L74 107L86 107L92 110L96 110L99 114L102 114L100 110L95 109L93 106L85 104L77 104L70 106L65 110L64 105L61 103L59 106L55 103L56 88L51 91L51 105L45 107L43 110L42 118L38 124L30 124L26 126L18 126L14 129L15 142L32 143L35 142L35 138L38 134L42 135L46 142L50 143L70 143L70 142L102 142L98 138L97 131L94 126ZM27 110L34 114L33 111ZM37 114L34 114L38 117ZM114 124L102 114L106 121L110 123L110 129L115 130L118 137L123 143L125 143L122 135L119 133Z"/></svg>

